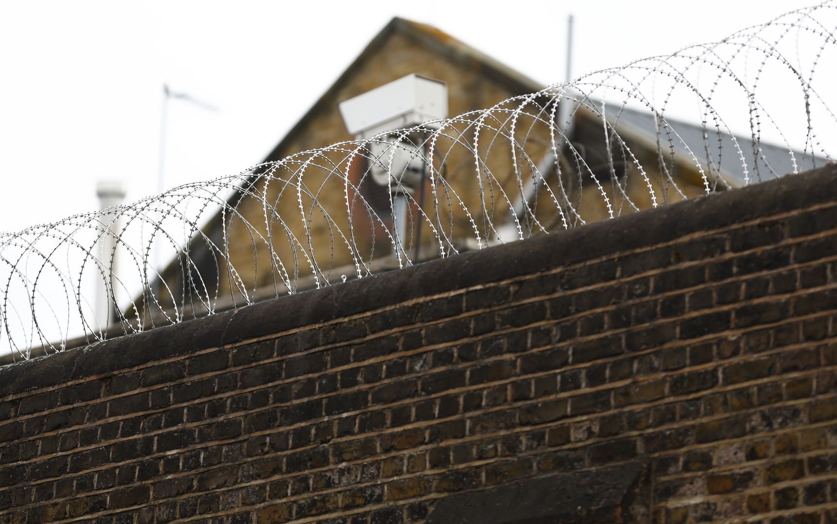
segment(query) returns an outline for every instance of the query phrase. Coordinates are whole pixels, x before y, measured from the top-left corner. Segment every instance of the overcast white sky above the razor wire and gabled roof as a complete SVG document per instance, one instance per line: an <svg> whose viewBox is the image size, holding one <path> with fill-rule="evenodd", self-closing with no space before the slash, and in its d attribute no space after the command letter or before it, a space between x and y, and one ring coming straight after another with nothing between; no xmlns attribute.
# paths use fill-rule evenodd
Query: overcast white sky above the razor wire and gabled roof
<svg viewBox="0 0 837 524"><path fill-rule="evenodd" d="M0 3L0 230L95 209L95 182L156 191L259 162L393 16L431 23L545 84L716 41L808 2Z"/></svg>

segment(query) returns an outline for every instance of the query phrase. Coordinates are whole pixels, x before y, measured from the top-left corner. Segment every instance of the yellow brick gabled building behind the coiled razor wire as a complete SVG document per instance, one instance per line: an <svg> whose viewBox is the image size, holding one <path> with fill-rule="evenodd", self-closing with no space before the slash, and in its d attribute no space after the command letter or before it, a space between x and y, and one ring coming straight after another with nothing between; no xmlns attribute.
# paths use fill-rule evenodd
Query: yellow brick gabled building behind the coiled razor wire
<svg viewBox="0 0 837 524"><path fill-rule="evenodd" d="M298 152L351 141L353 137L341 120L338 104L413 73L447 85L449 116L490 108L502 100L544 87L436 28L394 18L264 162L279 162ZM436 187L440 204L434 209L430 199L434 188L429 182L426 184L428 196L422 207L436 223L434 226L433 219L425 219L420 237L418 228L412 228L408 244L411 253L417 244L422 248L421 259L439 256L441 249L448 254L475 249L497 241L499 235L492 229L494 226L514 225L509 204L521 198L521 179L531 179L535 164L554 158L549 126L543 125L551 112L557 113L549 104L532 100L521 112L513 131L508 121L486 122L475 150L463 146L474 141L472 122L461 126L454 122L449 126L450 137L442 136L434 144L439 156L433 160L434 169L444 169L441 172L449 184ZM495 115L510 114L519 105L518 101L507 107L500 105ZM559 170L547 166L548 171L562 174L547 178L529 199L532 212L520 216L525 237L612 214L633 213L651 207L654 200L666 203L693 198L705 193L706 183L713 190L742 183L740 176L713 162L708 148L705 162L700 160L703 148L694 153L690 150L689 154L670 153L676 147L682 150L690 140L700 145L717 138L711 133L707 136L700 126L669 122L677 134L672 145L666 142L665 132L658 135L659 122L652 113L622 108L618 114L611 114L605 110L608 126L629 148L630 154L626 154L625 147L618 147L619 142L611 141L608 149L595 101L586 100L573 105L573 109L573 124L568 128L572 146L562 147ZM732 137L721 134L720 140L731 141ZM515 142L525 142L526 151L510 154ZM364 179L368 162L352 156L353 148L336 147L322 155L306 154L278 166L260 168L244 184L249 194L244 198L235 195L229 200L230 205L209 221L203 233L215 246L223 246L224 252L213 253L206 242L196 241L189 248L189 258L200 273L205 290L212 290L209 295L215 295L217 290L215 311L282 295L289 287L302 290L333 284L344 275L355 278L395 264L391 256L393 244L387 235L392 220L388 193ZM784 150L774 149L775 152L763 146L767 157L763 154L761 160L773 172L783 174L776 158ZM724 151L726 155L727 149ZM773 157L768 158L770 155ZM477 162L479 170L475 169L475 157L483 162L481 166ZM305 190L300 192L301 184L297 182L303 176ZM630 182L620 182L629 178ZM412 207L416 221L411 225L416 226L419 203ZM464 208L470 213L465 213ZM449 246L439 248L439 242L434 241L437 235L444 236ZM475 242L475 237L480 241ZM181 262L172 263L164 271L168 287L188 293L189 286L183 285L184 273ZM179 299L173 301L179 303ZM166 300L163 296L160 302L164 307L172 306L171 297ZM194 313L203 312L197 311L203 306L194 307Z"/></svg>

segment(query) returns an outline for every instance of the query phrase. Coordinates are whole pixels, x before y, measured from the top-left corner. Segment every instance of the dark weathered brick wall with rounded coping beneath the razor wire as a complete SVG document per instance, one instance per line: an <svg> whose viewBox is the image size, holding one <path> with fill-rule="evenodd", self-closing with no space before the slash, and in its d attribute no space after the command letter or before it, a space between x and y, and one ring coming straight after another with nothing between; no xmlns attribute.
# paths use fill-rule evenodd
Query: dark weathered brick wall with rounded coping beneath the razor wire
<svg viewBox="0 0 837 524"><path fill-rule="evenodd" d="M0 522L837 521L835 177L0 367Z"/></svg>

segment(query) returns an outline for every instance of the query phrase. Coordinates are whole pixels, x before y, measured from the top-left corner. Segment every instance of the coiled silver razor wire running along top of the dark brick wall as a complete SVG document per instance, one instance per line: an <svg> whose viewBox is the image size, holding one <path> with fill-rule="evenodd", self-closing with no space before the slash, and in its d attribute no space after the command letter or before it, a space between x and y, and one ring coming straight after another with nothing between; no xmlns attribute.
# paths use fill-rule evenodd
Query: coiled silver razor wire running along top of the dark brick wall
<svg viewBox="0 0 837 524"><path fill-rule="evenodd" d="M797 9L485 110L0 234L0 352L60 351L821 165L835 79L814 78L837 63L835 15L832 2Z"/></svg>

